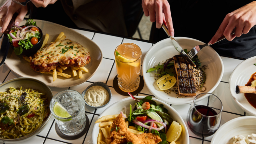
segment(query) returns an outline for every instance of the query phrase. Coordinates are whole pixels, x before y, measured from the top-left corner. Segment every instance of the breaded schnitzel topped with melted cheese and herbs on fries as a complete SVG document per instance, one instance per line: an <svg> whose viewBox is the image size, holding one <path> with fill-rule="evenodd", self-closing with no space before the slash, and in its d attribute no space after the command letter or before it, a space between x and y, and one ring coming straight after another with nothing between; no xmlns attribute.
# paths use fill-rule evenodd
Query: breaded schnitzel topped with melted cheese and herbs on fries
<svg viewBox="0 0 256 144"><path fill-rule="evenodd" d="M91 61L88 50L69 39L49 43L29 59L31 68L36 72L51 71L59 64L66 67L83 67Z"/></svg>

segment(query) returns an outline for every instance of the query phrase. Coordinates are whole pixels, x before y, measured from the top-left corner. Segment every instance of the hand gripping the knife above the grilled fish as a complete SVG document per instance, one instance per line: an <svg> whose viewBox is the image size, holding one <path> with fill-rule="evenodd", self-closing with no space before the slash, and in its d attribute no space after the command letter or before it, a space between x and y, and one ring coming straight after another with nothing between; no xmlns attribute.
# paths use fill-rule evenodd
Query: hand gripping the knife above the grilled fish
<svg viewBox="0 0 256 144"><path fill-rule="evenodd" d="M161 28L165 23L169 34L174 37L170 5L167 0L142 0L145 16L150 16L150 21L156 21L156 28Z"/></svg>

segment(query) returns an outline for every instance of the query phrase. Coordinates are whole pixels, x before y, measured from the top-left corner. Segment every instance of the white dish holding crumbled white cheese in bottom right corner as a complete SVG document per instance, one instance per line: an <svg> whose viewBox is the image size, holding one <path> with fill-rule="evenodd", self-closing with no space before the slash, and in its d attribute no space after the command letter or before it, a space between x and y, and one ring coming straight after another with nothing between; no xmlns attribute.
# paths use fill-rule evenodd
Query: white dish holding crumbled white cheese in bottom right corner
<svg viewBox="0 0 256 144"><path fill-rule="evenodd" d="M222 125L214 134L211 144L231 144L233 136L243 135L247 137L256 133L256 117L245 116L232 119Z"/></svg>

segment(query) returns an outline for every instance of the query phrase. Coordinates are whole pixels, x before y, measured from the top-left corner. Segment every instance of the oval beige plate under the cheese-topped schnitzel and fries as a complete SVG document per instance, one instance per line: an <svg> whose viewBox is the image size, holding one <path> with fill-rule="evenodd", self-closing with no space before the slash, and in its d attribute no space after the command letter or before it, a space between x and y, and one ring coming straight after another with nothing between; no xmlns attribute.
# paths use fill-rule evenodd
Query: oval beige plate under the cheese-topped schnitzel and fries
<svg viewBox="0 0 256 144"><path fill-rule="evenodd" d="M70 78L57 76L56 81L53 82L52 75L35 72L30 67L30 64L22 58L22 55L17 56L11 47L10 47L8 56L5 60L5 64L9 69L11 69L13 72L15 72L17 75L21 77L35 78L37 80L44 82L47 86L51 86L51 87L76 86L84 83L95 74L95 72L97 71L97 69L101 64L102 57L103 57L101 49L95 42L93 42L92 40L88 39L84 35L70 28L67 28L49 21L44 21L44 20L34 19L34 21L37 21L37 26L41 28L43 35L45 35L46 33L49 34L48 43L55 41L59 33L64 32L64 34L67 36L66 39L71 39L73 41L76 41L80 43L82 46L84 46L85 48L87 48L88 51L90 52L91 62L85 67L88 69L89 72L88 73L83 72L82 78L79 78L78 74L77 76L73 77L71 69L68 68L66 70L63 70L63 73L72 75ZM25 23L26 23L25 20L22 21L20 23L20 26L24 25Z"/></svg>

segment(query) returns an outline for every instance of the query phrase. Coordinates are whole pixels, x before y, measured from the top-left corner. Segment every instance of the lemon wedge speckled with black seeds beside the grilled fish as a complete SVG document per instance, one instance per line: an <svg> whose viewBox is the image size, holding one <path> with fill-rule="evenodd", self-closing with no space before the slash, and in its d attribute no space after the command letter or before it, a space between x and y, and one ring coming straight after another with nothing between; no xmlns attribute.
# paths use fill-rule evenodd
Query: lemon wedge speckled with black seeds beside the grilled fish
<svg viewBox="0 0 256 144"><path fill-rule="evenodd" d="M156 81L156 84L160 90L167 90L167 89L172 88L176 82L177 82L177 80L174 76L170 76L169 74L167 74L167 75L160 77Z"/></svg>

